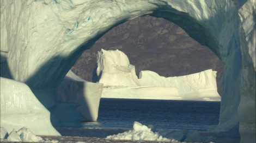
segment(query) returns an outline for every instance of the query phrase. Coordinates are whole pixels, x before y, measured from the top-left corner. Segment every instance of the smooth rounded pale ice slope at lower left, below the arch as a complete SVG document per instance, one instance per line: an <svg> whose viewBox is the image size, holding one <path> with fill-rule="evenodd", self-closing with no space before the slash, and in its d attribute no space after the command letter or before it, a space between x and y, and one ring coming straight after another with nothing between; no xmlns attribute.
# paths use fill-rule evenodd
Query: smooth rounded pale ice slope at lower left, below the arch
<svg viewBox="0 0 256 143"><path fill-rule="evenodd" d="M0 83L1 127L8 132L27 127L37 135L60 135L51 124L50 112L25 83L4 77L0 77Z"/></svg>

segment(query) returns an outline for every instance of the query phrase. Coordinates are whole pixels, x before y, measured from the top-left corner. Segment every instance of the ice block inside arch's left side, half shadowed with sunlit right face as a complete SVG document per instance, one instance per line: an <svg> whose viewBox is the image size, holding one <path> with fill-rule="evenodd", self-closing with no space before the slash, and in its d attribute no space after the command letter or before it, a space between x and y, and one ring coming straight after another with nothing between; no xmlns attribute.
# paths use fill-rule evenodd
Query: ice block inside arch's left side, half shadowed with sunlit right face
<svg viewBox="0 0 256 143"><path fill-rule="evenodd" d="M64 80L56 88L54 99L57 102L78 103L77 112L82 115L83 120L96 121L102 89L103 85L101 83L80 79L69 70ZM64 112L66 111L64 110Z"/></svg>

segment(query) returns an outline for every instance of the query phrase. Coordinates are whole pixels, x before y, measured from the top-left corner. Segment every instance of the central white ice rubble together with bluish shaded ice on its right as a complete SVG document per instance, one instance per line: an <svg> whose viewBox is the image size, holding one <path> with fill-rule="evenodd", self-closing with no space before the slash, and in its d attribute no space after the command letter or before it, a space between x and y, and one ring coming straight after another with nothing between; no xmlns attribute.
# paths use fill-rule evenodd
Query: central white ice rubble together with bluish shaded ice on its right
<svg viewBox="0 0 256 143"><path fill-rule="evenodd" d="M142 125L135 121L133 129L119 134L109 135L109 140L150 140L171 142L210 142L216 141L211 135L203 137L196 130L155 129L153 125Z"/></svg>

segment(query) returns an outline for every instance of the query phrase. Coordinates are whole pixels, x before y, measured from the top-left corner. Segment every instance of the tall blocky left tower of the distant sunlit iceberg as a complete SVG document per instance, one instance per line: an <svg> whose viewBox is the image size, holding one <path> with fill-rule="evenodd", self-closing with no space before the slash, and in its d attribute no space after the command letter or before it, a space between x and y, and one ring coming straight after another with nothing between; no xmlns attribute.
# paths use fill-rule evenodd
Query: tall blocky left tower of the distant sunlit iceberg
<svg viewBox="0 0 256 143"><path fill-rule="evenodd" d="M128 57L118 49L98 51L96 74L99 83L104 86L139 86L135 66L132 66Z"/></svg>

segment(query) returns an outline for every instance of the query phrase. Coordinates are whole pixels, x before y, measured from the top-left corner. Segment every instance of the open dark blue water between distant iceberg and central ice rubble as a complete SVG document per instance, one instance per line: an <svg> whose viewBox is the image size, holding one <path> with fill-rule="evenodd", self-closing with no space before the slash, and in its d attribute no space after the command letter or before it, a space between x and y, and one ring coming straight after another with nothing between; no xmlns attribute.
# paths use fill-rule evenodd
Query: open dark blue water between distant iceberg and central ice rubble
<svg viewBox="0 0 256 143"><path fill-rule="evenodd" d="M206 131L217 125L220 102L101 99L97 122L84 123L93 128L132 128L133 122L155 128Z"/></svg>

